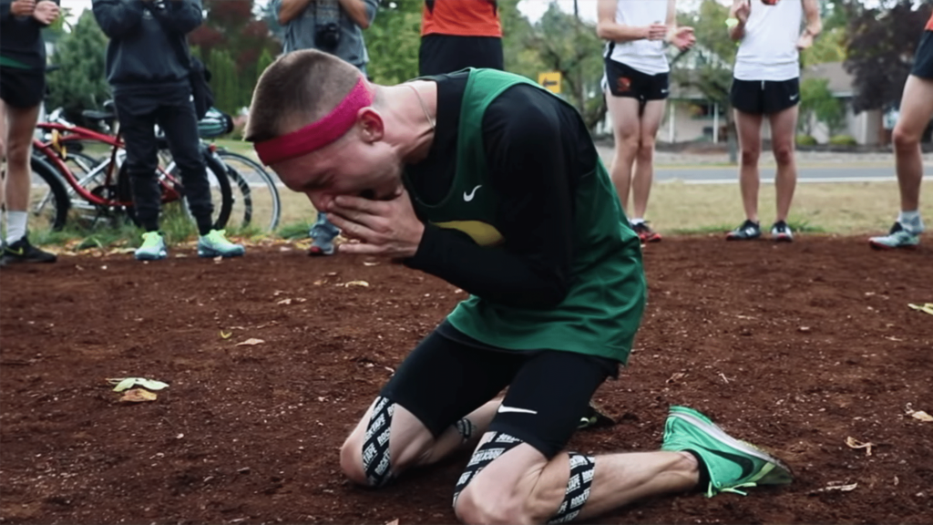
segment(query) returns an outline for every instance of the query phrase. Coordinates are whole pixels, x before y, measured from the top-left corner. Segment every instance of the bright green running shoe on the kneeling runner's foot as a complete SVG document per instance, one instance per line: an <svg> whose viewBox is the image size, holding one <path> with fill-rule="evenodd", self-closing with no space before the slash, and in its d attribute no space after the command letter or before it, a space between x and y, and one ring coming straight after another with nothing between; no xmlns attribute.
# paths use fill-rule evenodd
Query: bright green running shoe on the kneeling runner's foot
<svg viewBox="0 0 933 525"><path fill-rule="evenodd" d="M672 406L664 425L661 450L689 451L703 460L709 475L706 497L758 485L787 485L793 481L783 462L745 441L723 432L716 423L686 406Z"/></svg>

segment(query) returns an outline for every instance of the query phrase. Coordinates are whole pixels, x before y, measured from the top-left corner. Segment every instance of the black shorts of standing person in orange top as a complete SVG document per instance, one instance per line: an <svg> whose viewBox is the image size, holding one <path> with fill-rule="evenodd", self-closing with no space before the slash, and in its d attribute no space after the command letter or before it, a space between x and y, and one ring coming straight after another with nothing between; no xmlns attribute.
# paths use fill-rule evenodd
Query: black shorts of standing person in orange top
<svg viewBox="0 0 933 525"><path fill-rule="evenodd" d="M502 38L424 35L418 50L418 76L443 75L467 67L505 69Z"/></svg>

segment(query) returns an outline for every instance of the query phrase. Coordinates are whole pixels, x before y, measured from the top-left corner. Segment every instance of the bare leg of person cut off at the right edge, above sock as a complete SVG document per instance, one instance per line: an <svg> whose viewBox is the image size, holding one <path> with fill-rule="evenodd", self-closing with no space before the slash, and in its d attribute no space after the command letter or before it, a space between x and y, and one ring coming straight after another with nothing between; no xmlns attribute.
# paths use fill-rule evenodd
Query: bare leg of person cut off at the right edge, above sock
<svg viewBox="0 0 933 525"><path fill-rule="evenodd" d="M920 135L933 115L933 80L910 76L904 84L900 118L894 127L900 210L920 208L920 181L924 176Z"/></svg>

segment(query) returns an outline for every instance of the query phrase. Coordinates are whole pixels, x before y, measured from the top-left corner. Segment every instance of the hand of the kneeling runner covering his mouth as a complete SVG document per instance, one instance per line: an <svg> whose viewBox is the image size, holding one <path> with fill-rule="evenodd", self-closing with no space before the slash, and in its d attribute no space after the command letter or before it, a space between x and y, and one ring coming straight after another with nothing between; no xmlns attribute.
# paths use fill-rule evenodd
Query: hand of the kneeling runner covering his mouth
<svg viewBox="0 0 933 525"><path fill-rule="evenodd" d="M327 220L345 236L360 241L341 244L341 253L405 259L414 256L425 234L425 224L414 214L408 192L391 201L341 195L327 206Z"/></svg>

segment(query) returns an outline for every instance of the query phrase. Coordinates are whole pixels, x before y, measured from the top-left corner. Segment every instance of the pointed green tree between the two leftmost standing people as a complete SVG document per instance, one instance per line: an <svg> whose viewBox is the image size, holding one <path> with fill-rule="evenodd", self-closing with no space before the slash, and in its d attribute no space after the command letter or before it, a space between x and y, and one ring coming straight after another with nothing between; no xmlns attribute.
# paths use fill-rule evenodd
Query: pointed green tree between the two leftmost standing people
<svg viewBox="0 0 933 525"><path fill-rule="evenodd" d="M104 72L107 37L91 10L85 10L71 33L62 35L51 56L61 68L49 73L49 108L62 107L65 118L81 122L81 111L110 98Z"/></svg>

